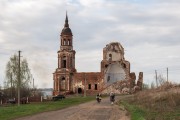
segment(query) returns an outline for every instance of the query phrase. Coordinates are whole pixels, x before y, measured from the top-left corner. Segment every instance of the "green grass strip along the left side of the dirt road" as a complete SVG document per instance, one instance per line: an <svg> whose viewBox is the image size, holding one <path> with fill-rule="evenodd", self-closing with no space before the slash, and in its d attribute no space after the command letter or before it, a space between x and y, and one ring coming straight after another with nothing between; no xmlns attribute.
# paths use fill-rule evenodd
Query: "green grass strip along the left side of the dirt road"
<svg viewBox="0 0 180 120"><path fill-rule="evenodd" d="M45 111L59 110L65 107L81 104L94 100L95 97L66 98L61 101L49 101L41 103L30 103L17 105L0 106L0 120L12 120L18 117L37 114Z"/></svg>

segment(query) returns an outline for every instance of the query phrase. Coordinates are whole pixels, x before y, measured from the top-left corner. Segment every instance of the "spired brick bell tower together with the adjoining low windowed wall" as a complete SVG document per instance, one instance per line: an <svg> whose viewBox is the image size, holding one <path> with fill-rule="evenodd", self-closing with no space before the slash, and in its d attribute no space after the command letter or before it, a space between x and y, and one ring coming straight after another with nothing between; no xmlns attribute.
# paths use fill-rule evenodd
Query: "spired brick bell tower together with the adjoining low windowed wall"
<svg viewBox="0 0 180 120"><path fill-rule="evenodd" d="M64 28L60 35L60 50L58 53L58 68L53 73L53 95L58 94L95 94L102 89L101 72L78 73L75 68L75 50L73 50L73 35L66 15Z"/></svg>

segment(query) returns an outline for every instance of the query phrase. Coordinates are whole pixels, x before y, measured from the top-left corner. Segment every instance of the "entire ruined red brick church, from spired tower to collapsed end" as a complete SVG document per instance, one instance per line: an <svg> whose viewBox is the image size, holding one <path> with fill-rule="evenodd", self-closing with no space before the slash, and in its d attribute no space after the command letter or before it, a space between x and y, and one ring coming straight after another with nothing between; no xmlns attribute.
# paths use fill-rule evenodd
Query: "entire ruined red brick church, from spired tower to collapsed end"
<svg viewBox="0 0 180 120"><path fill-rule="evenodd" d="M103 48L103 60L100 72L77 72L73 49L73 34L66 14L64 28L60 34L58 67L53 73L53 95L132 92L141 90L143 73L130 72L130 63L124 58L124 48L118 42L107 44Z"/></svg>

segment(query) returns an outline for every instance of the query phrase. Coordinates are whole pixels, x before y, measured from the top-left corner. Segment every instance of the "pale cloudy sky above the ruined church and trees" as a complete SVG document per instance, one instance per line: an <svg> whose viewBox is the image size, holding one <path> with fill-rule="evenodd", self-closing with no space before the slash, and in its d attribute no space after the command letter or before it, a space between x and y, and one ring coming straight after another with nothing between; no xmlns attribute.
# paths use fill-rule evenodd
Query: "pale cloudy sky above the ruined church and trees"
<svg viewBox="0 0 180 120"><path fill-rule="evenodd" d="M9 58L21 52L37 88L52 88L66 11L78 72L99 72L103 48L119 42L131 72L155 82L155 70L180 83L179 0L1 0L0 86Z"/></svg>

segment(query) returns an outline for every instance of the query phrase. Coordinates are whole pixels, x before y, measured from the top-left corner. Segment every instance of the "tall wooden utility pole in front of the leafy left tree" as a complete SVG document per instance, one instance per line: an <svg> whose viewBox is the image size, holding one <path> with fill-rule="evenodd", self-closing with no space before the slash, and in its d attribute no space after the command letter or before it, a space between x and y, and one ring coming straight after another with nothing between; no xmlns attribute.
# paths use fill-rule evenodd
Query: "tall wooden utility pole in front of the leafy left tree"
<svg viewBox="0 0 180 120"><path fill-rule="evenodd" d="M21 51L18 51L19 53L19 74L18 74L18 106L20 106L20 88L21 88L21 66L20 66L20 58L21 58Z"/></svg>

